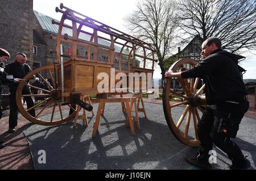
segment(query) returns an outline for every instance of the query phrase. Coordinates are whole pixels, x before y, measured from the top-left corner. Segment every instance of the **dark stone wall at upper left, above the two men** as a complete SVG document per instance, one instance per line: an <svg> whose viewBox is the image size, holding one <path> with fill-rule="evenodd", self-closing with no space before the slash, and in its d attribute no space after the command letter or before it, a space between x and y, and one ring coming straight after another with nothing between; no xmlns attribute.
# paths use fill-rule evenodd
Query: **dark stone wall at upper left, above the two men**
<svg viewBox="0 0 256 181"><path fill-rule="evenodd" d="M33 64L33 14L32 0L1 0L0 47L11 54L7 63L14 60L16 53L22 52L27 55L27 64Z"/></svg>

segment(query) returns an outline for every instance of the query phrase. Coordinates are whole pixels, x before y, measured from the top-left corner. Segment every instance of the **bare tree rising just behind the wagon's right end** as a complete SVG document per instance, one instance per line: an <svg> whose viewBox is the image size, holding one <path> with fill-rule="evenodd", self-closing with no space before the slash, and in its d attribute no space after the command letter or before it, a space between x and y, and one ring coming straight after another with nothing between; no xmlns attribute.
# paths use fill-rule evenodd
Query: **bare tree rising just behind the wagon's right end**
<svg viewBox="0 0 256 181"><path fill-rule="evenodd" d="M166 71L164 59L170 54L176 27L175 8L172 0L143 0L137 4L137 10L125 18L134 36L154 45L162 80Z"/></svg>

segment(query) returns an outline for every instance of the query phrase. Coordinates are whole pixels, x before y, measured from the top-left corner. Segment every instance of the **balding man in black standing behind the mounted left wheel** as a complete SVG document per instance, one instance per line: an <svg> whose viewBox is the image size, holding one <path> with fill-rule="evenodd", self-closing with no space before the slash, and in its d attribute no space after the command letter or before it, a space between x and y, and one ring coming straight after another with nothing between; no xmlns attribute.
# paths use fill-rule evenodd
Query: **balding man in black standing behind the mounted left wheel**
<svg viewBox="0 0 256 181"><path fill-rule="evenodd" d="M18 107L16 105L16 90L18 88L19 82L24 81L22 78L30 73L31 68L25 62L27 61L26 54L17 53L15 56L15 61L7 64L5 66L5 72L8 74L6 76L6 83L9 86L9 98L10 98L10 116L9 116L9 132L14 133L15 127L18 121ZM31 94L29 87L24 87L22 90L23 95ZM31 97L25 98L27 103L27 108L34 106L33 99ZM28 111L31 116L35 117L35 110Z"/></svg>

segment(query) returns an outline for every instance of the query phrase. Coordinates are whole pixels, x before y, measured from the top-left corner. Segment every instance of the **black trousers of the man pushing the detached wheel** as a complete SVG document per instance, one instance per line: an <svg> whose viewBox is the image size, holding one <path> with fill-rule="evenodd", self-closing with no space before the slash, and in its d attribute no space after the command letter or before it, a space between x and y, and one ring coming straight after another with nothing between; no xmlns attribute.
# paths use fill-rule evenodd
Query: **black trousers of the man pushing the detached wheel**
<svg viewBox="0 0 256 181"><path fill-rule="evenodd" d="M248 108L247 100L242 100L239 104L224 102L216 106L207 106L201 121L197 124L200 140L200 157L197 158L203 162L208 161L208 154L214 143L228 154L232 161L243 159L241 149L230 137L236 137L239 124Z"/></svg>

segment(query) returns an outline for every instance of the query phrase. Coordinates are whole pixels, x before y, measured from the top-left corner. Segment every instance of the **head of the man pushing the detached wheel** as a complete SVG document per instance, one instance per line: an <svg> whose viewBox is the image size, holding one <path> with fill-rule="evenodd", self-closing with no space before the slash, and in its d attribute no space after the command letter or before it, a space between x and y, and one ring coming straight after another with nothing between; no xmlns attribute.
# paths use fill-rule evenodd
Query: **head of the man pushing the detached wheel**
<svg viewBox="0 0 256 181"><path fill-rule="evenodd" d="M209 37L202 44L202 52L205 57L209 56L214 50L221 49L221 40L217 37Z"/></svg>

